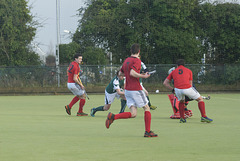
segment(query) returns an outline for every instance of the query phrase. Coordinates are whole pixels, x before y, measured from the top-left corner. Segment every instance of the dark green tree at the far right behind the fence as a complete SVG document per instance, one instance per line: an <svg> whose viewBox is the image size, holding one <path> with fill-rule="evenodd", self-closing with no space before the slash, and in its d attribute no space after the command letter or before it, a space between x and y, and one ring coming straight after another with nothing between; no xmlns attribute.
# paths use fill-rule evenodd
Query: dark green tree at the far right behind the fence
<svg viewBox="0 0 240 161"><path fill-rule="evenodd" d="M240 5L233 3L203 3L192 14L201 52L206 63L240 62Z"/></svg>

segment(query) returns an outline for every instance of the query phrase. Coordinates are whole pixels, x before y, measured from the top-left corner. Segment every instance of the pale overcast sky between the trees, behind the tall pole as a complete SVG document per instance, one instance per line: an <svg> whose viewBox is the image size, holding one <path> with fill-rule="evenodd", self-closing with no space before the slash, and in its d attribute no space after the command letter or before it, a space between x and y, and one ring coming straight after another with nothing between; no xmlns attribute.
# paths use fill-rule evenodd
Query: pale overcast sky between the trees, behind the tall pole
<svg viewBox="0 0 240 161"><path fill-rule="evenodd" d="M56 32L56 0L28 0L31 6L31 13L35 20L42 24L37 29L34 43L45 52L52 48L55 51L57 32ZM78 25L77 10L84 6L85 0L59 0L60 1L60 40L61 43L68 43L70 35L63 30L75 32Z"/></svg>

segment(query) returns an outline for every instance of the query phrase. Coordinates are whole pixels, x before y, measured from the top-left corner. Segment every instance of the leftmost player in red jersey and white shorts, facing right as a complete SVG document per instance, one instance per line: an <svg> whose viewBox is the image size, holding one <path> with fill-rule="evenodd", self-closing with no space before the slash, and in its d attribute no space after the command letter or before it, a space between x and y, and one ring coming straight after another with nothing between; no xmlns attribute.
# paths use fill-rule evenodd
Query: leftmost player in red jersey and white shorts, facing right
<svg viewBox="0 0 240 161"><path fill-rule="evenodd" d="M66 112L68 115L71 115L71 109L72 106L79 102L79 110L77 112L77 116L87 116L88 114L83 112L83 106L85 105L85 89L84 86L79 78L79 72L80 72L80 66L82 62L82 55L81 54L75 54L74 55L74 61L70 63L68 67L68 83L67 87L68 89L75 95L75 97L72 99L69 105L65 106Z"/></svg>

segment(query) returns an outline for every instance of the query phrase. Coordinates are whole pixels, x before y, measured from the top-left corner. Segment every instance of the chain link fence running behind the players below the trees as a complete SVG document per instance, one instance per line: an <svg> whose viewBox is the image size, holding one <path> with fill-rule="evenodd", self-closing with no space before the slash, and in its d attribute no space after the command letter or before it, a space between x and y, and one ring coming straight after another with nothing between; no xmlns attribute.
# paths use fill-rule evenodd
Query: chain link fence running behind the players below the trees
<svg viewBox="0 0 240 161"><path fill-rule="evenodd" d="M145 79L144 85L161 86L168 75L168 70L173 66L172 64L147 65L149 71L156 70L156 73ZM240 65L187 64L186 67L193 71L195 85L240 90ZM82 65L81 80L86 87L106 86L119 69L120 65ZM57 71L56 67L46 66L0 67L0 88L66 87L67 66L60 66L60 72Z"/></svg>

